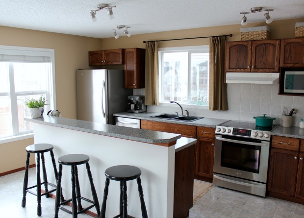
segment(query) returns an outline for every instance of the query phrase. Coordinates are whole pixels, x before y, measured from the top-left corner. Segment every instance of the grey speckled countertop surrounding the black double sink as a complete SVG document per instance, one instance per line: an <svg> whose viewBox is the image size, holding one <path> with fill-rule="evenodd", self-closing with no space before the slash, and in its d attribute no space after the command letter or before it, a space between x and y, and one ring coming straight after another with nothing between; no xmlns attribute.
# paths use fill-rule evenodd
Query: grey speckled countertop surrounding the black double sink
<svg viewBox="0 0 304 218"><path fill-rule="evenodd" d="M151 116L160 115L160 114L163 114L163 113L153 113L153 112L129 113L129 112L122 112L122 113L115 113L115 114L113 114L113 116L140 119L140 120L149 120L149 121L178 123L178 124L184 124L184 125L213 127L213 128L215 128L216 125L219 125L219 124L222 124L224 122L229 121L229 120L222 120L222 119L203 118L203 119L192 121L192 122L186 122L186 121L174 121L174 120L167 120L167 119L160 119L160 118L151 118Z"/></svg>

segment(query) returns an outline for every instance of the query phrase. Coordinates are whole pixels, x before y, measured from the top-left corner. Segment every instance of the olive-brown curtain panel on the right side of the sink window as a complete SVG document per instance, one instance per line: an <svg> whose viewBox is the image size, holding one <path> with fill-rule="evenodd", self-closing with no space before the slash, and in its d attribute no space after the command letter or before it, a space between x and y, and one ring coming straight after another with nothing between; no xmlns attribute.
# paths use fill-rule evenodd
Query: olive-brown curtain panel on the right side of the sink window
<svg viewBox="0 0 304 218"><path fill-rule="evenodd" d="M210 38L209 47L209 110L227 111L227 83L225 83L225 36Z"/></svg>

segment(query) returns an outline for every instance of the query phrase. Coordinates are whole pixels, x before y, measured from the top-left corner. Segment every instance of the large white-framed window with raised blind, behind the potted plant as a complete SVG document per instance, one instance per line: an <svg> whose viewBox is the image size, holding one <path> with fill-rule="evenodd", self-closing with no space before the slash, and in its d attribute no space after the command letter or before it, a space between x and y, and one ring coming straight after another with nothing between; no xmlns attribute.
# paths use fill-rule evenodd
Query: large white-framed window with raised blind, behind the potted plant
<svg viewBox="0 0 304 218"><path fill-rule="evenodd" d="M45 97L45 111L55 107L53 60L53 49L0 46L1 143L33 132L32 123L24 120L29 116L26 98Z"/></svg>

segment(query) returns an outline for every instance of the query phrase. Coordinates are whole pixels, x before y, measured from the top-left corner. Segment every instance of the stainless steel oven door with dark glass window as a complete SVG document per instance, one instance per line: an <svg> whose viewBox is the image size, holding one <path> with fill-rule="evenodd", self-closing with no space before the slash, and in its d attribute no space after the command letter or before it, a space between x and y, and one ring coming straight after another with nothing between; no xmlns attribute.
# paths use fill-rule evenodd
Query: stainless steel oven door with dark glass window
<svg viewBox="0 0 304 218"><path fill-rule="evenodd" d="M269 142L215 135L215 173L266 183Z"/></svg>

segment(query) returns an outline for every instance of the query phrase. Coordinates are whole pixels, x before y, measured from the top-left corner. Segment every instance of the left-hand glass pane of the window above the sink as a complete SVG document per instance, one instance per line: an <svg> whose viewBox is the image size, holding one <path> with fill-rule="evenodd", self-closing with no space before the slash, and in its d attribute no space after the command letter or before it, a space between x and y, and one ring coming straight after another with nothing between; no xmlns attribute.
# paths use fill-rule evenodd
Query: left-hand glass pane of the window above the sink
<svg viewBox="0 0 304 218"><path fill-rule="evenodd" d="M163 54L162 101L188 101L188 52Z"/></svg>

